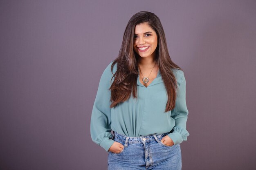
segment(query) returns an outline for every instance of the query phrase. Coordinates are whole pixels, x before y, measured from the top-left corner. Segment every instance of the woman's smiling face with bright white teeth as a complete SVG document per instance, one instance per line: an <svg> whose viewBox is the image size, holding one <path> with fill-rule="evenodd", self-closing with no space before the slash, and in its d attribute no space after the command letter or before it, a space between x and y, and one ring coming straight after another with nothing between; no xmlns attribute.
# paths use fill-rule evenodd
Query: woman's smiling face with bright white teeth
<svg viewBox="0 0 256 170"><path fill-rule="evenodd" d="M157 33L147 24L135 26L133 49L141 57L155 57L157 48Z"/></svg>

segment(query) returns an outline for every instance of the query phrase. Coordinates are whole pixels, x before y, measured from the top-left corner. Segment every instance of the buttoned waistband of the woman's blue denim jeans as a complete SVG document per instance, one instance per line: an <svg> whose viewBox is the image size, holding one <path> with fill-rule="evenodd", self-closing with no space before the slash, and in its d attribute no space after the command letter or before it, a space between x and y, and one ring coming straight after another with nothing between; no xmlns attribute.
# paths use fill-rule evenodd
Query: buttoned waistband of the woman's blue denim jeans
<svg viewBox="0 0 256 170"><path fill-rule="evenodd" d="M159 138L168 135L169 132L162 133L159 135L147 135L147 136L140 136L140 137L127 137L125 135L121 135L118 132L113 131L114 137L113 139L117 139L119 141L122 141L125 144L125 147L127 147L127 144L135 144L135 143L146 143L148 141L156 140L158 143L160 142Z"/></svg>

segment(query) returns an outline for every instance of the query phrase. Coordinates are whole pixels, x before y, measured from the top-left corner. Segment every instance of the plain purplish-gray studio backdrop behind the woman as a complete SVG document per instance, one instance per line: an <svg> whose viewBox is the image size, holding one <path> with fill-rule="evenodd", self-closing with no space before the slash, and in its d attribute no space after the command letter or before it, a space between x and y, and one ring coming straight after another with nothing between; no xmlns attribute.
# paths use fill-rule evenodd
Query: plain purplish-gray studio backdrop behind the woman
<svg viewBox="0 0 256 170"><path fill-rule="evenodd" d="M99 79L139 11L184 69L183 170L256 163L255 0L1 0L0 169L106 170L90 117Z"/></svg>

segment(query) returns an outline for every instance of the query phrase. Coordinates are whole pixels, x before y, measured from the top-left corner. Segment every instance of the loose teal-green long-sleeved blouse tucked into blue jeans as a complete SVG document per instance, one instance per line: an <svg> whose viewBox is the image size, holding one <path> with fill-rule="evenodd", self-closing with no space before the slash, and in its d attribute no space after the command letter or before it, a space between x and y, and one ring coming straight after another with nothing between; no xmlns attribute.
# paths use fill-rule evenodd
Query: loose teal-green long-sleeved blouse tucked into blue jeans
<svg viewBox="0 0 256 170"><path fill-rule="evenodd" d="M114 78L111 64L106 67L101 75L97 95L92 108L90 133L92 141L107 152L114 143L111 130L128 137L146 135L159 135L170 132L168 136L174 144L186 141L189 132L186 130L188 110L186 107L186 80L181 70L175 69L178 89L175 108L164 112L167 102L167 92L160 71L148 87L145 87L137 78L138 98L132 95L128 100L110 108L110 88ZM114 66L113 73L117 70Z"/></svg>

